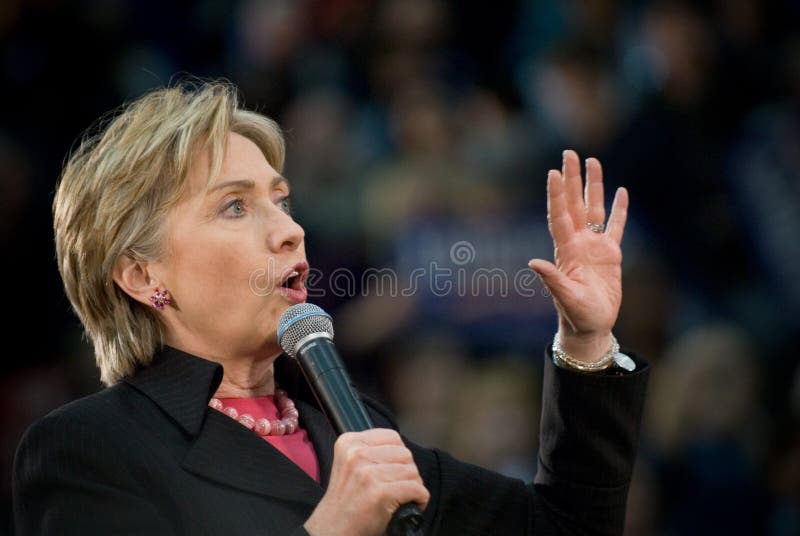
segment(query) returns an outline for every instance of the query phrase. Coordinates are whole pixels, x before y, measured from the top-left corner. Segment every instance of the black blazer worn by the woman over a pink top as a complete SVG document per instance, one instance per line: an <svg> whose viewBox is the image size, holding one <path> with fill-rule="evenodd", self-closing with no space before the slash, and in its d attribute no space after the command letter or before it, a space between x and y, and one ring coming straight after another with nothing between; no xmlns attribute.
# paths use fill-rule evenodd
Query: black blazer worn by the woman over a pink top
<svg viewBox="0 0 800 536"><path fill-rule="evenodd" d="M587 375L546 359L535 484L407 442L431 493L425 533L621 534L647 380L640 366ZM294 362L281 356L276 377L313 441L320 484L209 409L220 365L165 348L26 432L13 474L17 533L305 535L336 437ZM396 428L366 403L376 426Z"/></svg>

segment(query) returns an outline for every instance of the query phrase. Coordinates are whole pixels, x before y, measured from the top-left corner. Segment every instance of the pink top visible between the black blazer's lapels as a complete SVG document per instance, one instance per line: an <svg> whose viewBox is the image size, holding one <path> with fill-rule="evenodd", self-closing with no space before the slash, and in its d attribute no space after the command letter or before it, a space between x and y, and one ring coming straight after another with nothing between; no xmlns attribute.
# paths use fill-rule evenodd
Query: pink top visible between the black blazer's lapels
<svg viewBox="0 0 800 536"><path fill-rule="evenodd" d="M281 418L272 395L253 398L220 398L220 401L226 408L236 408L239 415L249 413L255 420L263 418L273 421ZM308 476L319 482L317 454L314 452L314 445L311 443L308 433L302 426L298 425L293 434L261 437L292 460Z"/></svg>

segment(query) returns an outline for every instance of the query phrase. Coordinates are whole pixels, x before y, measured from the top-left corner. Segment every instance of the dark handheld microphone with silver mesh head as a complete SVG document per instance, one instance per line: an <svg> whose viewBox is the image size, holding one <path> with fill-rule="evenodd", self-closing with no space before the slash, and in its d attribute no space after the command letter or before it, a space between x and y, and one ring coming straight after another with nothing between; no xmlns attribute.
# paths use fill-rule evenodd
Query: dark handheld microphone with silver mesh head
<svg viewBox="0 0 800 536"><path fill-rule="evenodd" d="M311 303L292 305L278 320L278 342L297 359L337 434L373 428L333 345L333 319L328 313ZM394 512L387 534L417 536L421 528L422 513L416 504L407 503Z"/></svg>

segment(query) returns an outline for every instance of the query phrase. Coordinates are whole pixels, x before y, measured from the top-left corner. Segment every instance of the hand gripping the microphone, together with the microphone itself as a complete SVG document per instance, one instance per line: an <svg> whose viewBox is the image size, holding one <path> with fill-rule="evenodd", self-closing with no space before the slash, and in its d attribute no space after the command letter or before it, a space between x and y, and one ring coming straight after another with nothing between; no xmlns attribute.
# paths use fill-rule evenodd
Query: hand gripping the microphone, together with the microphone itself
<svg viewBox="0 0 800 536"><path fill-rule="evenodd" d="M301 303L284 312L278 340L297 359L337 434L328 491L306 522L317 534L416 536L430 497L394 430L373 429L333 345L330 315ZM388 523L388 527L387 527Z"/></svg>

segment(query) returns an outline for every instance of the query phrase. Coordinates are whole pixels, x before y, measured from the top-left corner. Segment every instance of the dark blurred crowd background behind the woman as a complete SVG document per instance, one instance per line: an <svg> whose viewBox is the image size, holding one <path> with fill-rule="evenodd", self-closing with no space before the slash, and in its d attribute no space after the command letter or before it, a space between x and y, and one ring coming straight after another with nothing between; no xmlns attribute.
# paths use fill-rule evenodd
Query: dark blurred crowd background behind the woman
<svg viewBox="0 0 800 536"><path fill-rule="evenodd" d="M0 42L0 533L25 428L101 388L54 261L61 165L191 73L286 130L310 301L362 389L524 479L555 328L525 273L552 256L546 172L599 157L632 202L615 331L653 367L627 533L800 534L796 1L3 0ZM434 262L447 292L361 277ZM479 269L512 288L459 287Z"/></svg>

